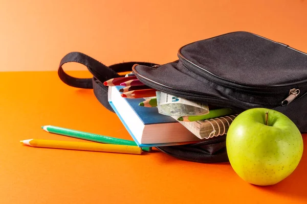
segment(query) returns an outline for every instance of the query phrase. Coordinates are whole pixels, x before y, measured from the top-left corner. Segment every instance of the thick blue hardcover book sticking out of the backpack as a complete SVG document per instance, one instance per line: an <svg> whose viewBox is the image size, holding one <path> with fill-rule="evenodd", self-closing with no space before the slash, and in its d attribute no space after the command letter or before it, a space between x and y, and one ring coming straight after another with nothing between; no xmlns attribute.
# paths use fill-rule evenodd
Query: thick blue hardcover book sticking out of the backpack
<svg viewBox="0 0 307 204"><path fill-rule="evenodd" d="M122 86L108 87L108 101L139 147L181 145L200 141L171 116L158 113L156 107L139 106L144 98L124 98Z"/></svg>

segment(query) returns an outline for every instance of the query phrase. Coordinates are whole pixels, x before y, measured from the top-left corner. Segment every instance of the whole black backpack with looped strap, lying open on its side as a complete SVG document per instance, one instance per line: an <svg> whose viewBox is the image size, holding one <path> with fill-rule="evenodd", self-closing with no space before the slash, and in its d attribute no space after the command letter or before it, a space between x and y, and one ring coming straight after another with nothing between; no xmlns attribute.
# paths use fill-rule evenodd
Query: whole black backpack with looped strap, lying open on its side
<svg viewBox="0 0 307 204"><path fill-rule="evenodd" d="M163 49L162 49L163 50ZM68 62L85 65L91 79L73 78L62 69ZM307 132L307 54L286 44L249 32L232 32L184 45L178 60L163 65L126 62L105 66L82 53L63 57L59 78L78 88L94 89L100 103L107 100L109 79L133 71L145 85L172 95L228 107L237 114L251 108L269 108L287 115L301 132ZM228 162L226 135L194 144L157 147L178 159Z"/></svg>

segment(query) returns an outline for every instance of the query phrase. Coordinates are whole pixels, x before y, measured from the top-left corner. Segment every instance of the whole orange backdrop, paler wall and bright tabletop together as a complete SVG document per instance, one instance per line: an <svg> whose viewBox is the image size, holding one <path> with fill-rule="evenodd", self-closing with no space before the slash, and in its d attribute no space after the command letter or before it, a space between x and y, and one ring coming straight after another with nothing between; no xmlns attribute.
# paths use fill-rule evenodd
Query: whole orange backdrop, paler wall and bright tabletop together
<svg viewBox="0 0 307 204"><path fill-rule="evenodd" d="M74 138L57 125L131 139L93 90L69 87L56 70L73 51L106 65L166 63L180 46L237 30L307 52L306 1L0 0L0 203L306 203L307 154L287 179L257 187L226 164L181 161L158 150L124 155L20 145ZM78 64L64 69L83 69ZM32 72L30 70L49 70ZM70 72L90 77L87 71ZM303 135L304 149L307 135Z"/></svg>

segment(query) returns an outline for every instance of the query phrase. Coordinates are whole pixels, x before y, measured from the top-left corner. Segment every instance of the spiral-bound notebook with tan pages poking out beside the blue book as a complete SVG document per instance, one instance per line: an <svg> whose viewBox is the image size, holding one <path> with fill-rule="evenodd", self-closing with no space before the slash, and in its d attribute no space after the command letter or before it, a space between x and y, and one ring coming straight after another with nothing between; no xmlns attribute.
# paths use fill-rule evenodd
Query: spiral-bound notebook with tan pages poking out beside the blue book
<svg viewBox="0 0 307 204"><path fill-rule="evenodd" d="M200 139L209 139L227 134L231 122L237 115L227 115L193 122L179 121L191 133ZM173 117L178 118L178 117Z"/></svg>

